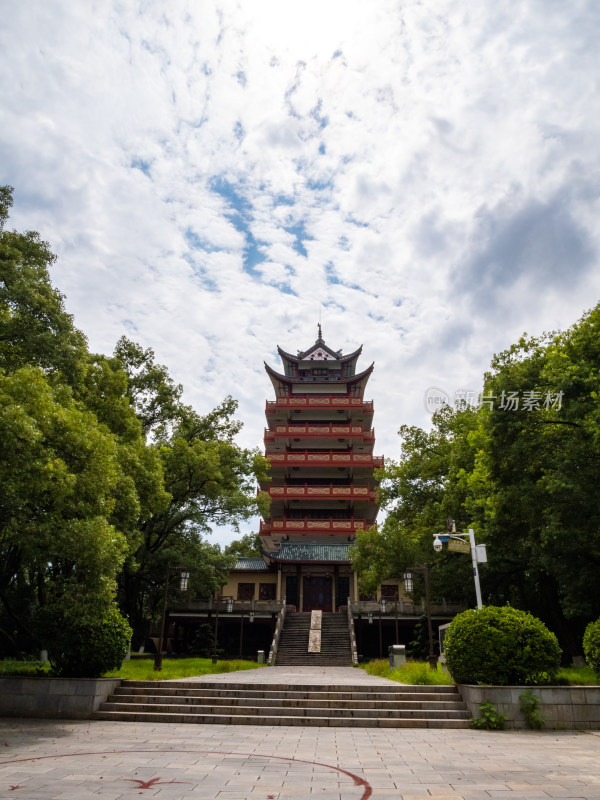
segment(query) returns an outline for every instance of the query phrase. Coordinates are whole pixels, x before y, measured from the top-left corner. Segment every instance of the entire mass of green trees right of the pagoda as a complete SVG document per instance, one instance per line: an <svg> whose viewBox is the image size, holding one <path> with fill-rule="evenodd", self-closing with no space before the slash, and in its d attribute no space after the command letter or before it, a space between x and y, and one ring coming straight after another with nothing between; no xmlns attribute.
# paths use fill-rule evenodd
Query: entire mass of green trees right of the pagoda
<svg viewBox="0 0 600 800"><path fill-rule="evenodd" d="M402 426L402 459L380 474L388 516L354 549L363 588L427 561L432 596L472 603L468 558L432 551L452 517L488 545L484 599L531 611L580 653L600 614L598 364L600 306L495 356L478 409L445 407L430 431Z"/></svg>

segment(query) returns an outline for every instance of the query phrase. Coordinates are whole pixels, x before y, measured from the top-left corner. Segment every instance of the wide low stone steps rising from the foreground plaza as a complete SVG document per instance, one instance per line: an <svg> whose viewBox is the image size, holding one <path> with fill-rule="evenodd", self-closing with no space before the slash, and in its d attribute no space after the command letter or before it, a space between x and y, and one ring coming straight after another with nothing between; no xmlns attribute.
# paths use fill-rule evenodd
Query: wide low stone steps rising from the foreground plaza
<svg viewBox="0 0 600 800"><path fill-rule="evenodd" d="M123 681L94 714L124 722L354 728L468 728L469 716L454 686L190 681Z"/></svg>

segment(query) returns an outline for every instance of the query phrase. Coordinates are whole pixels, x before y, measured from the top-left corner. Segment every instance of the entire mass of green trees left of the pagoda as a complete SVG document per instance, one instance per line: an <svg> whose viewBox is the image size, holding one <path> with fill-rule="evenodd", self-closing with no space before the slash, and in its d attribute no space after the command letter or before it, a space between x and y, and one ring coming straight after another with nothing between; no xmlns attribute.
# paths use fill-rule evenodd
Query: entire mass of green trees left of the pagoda
<svg viewBox="0 0 600 800"><path fill-rule="evenodd" d="M232 398L202 415L152 350L89 352L49 246L5 230L11 204L0 188L0 649L43 646L50 617L91 624L115 595L143 636L167 565L200 596L224 582L235 557L204 535L264 504L266 462L236 444Z"/></svg>

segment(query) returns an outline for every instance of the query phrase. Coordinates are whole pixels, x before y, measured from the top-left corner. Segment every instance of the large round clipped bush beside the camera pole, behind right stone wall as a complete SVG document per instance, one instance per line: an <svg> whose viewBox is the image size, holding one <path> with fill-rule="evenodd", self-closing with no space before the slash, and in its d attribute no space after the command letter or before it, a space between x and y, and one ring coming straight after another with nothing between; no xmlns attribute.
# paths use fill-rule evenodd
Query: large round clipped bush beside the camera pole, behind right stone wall
<svg viewBox="0 0 600 800"><path fill-rule="evenodd" d="M556 636L532 614L486 606L452 620L444 656L456 683L526 686L552 681L561 650Z"/></svg>

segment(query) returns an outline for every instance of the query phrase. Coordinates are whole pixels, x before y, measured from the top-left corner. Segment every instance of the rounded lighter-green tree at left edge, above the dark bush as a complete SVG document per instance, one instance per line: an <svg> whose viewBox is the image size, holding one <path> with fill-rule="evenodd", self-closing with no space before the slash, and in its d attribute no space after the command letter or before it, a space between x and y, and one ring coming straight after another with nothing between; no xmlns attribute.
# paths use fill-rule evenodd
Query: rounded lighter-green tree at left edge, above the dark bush
<svg viewBox="0 0 600 800"><path fill-rule="evenodd" d="M114 437L37 367L0 374L0 599L35 638L37 612L108 608L127 543L109 522Z"/></svg>

